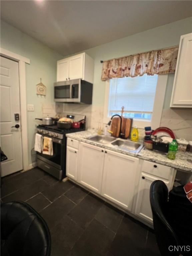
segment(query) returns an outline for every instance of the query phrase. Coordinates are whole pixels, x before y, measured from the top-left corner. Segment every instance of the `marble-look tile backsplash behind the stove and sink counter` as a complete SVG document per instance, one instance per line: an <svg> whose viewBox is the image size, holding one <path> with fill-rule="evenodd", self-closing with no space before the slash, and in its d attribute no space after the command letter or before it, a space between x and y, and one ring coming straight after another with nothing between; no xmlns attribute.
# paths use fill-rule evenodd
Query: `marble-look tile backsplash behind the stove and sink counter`
<svg viewBox="0 0 192 256"><path fill-rule="evenodd" d="M46 111L48 110L46 109ZM105 127L103 124L103 106L56 103L55 111L61 115L63 112L86 115L87 129L98 129L99 126L104 129ZM173 130L176 138L192 141L192 110L163 109L160 126ZM144 129L139 129L139 136L140 138L145 136Z"/></svg>

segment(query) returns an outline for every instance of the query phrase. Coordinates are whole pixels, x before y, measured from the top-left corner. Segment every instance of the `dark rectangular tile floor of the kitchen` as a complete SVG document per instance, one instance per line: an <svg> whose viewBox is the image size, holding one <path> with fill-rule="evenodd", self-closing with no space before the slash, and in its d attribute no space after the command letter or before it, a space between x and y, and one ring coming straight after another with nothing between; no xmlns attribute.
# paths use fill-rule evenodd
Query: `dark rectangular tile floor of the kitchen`
<svg viewBox="0 0 192 256"><path fill-rule="evenodd" d="M38 168L3 178L1 200L25 201L42 215L51 232L51 256L160 256L150 228Z"/></svg>

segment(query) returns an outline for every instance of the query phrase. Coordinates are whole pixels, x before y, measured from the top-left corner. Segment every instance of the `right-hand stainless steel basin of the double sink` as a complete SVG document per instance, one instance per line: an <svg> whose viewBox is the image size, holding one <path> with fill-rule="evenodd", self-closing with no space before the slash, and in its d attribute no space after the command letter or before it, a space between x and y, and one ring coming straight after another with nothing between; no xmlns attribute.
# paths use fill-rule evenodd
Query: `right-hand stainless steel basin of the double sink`
<svg viewBox="0 0 192 256"><path fill-rule="evenodd" d="M123 139L117 139L113 142L111 142L112 145L118 146L118 148L127 150L134 153L139 153L139 151L142 149L143 144L139 142L133 142L131 140L123 140Z"/></svg>

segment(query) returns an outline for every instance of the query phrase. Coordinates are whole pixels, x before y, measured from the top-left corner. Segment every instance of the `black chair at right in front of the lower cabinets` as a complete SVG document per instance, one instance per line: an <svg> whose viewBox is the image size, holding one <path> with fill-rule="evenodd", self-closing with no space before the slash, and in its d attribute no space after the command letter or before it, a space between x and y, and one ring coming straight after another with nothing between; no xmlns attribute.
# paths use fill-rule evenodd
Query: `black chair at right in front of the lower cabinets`
<svg viewBox="0 0 192 256"><path fill-rule="evenodd" d="M150 203L153 213L153 225L159 251L162 256L178 256L179 252L174 251L178 246L178 238L167 221L168 189L161 180L156 180L150 187ZM170 250L169 250L170 249ZM172 251L173 250L173 251Z"/></svg>

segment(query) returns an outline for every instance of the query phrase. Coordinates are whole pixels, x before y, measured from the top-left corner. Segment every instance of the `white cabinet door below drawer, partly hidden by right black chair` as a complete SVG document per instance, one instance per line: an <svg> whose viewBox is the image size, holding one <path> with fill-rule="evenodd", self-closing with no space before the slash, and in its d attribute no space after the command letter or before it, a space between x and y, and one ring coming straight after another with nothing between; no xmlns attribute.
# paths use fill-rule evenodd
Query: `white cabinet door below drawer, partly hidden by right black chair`
<svg viewBox="0 0 192 256"><path fill-rule="evenodd" d="M155 180L162 180L165 182L169 189L169 181L159 179L158 177L148 175L144 172L141 173L139 181L139 190L137 194L137 203L135 213L141 218L153 223L153 216L151 211L151 204L149 198L150 186Z"/></svg>

